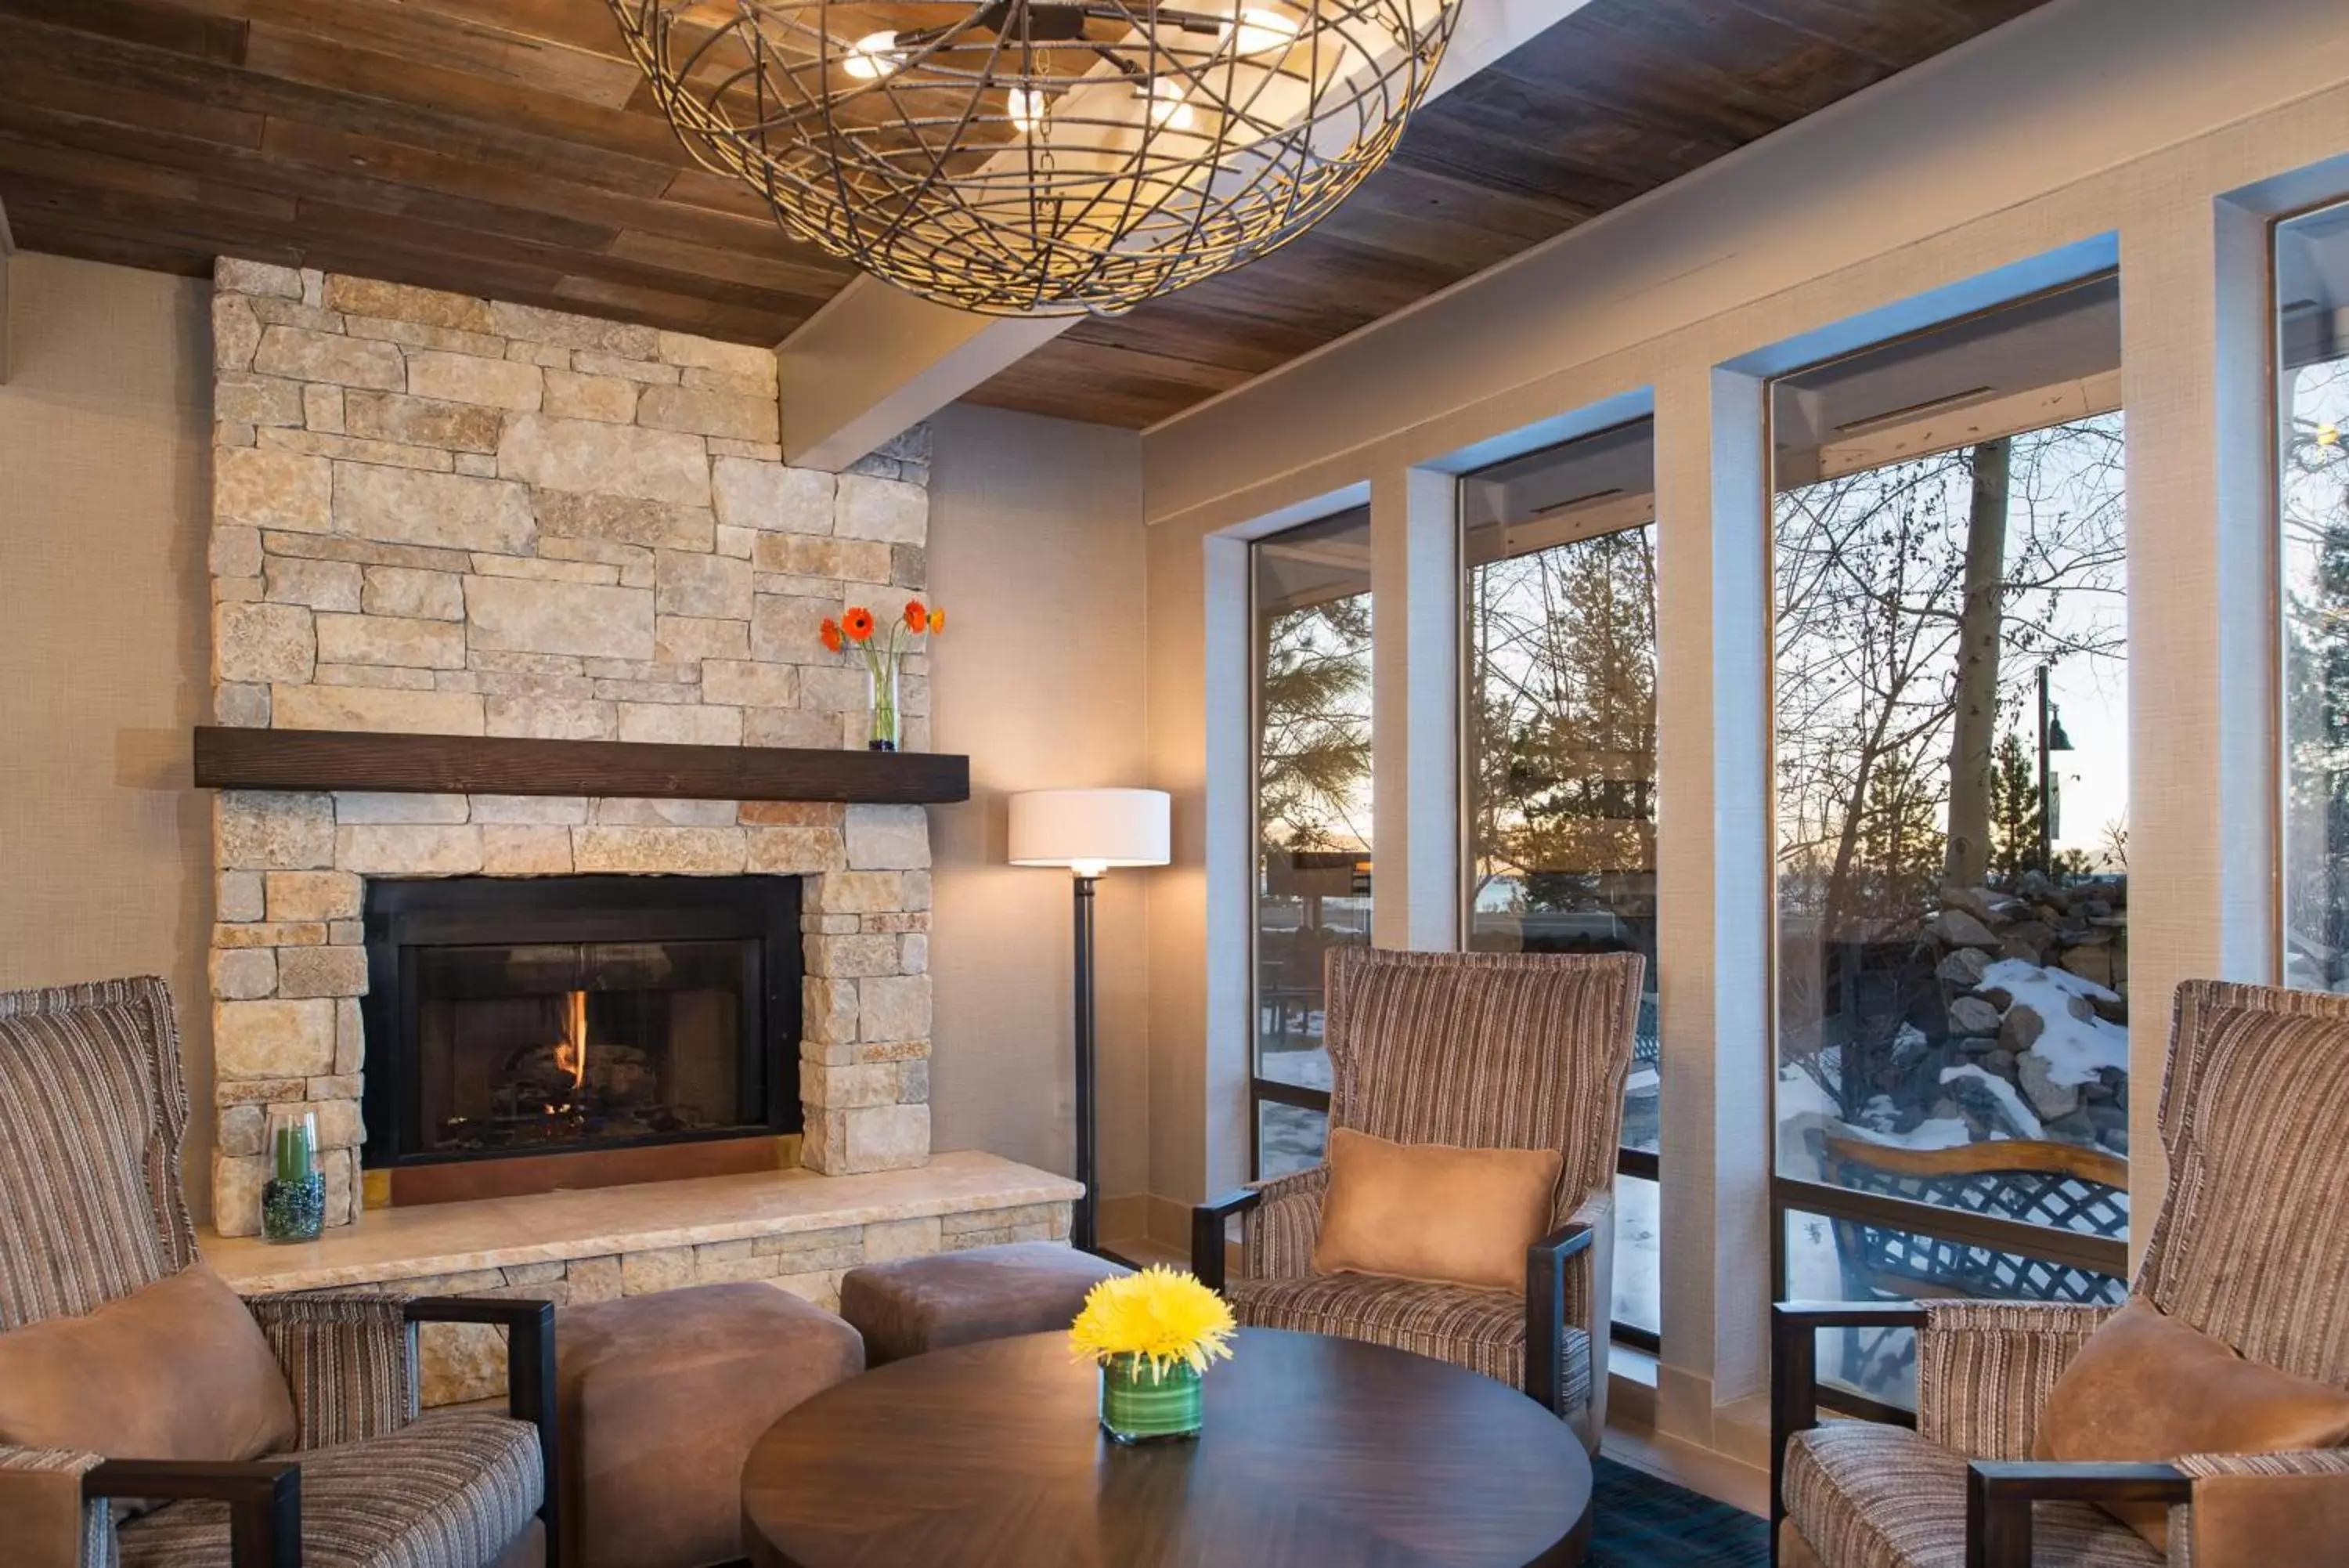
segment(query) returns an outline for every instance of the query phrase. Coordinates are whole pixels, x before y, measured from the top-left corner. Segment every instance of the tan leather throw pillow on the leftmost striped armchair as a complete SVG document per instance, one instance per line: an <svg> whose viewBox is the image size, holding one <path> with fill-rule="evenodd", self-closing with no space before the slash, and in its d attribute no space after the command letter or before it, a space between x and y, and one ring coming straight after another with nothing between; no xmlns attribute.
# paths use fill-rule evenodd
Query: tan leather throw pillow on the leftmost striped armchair
<svg viewBox="0 0 2349 1568"><path fill-rule="evenodd" d="M197 1262L96 1312L0 1333L0 1443L258 1460L294 1446L294 1394L261 1324Z"/></svg>

